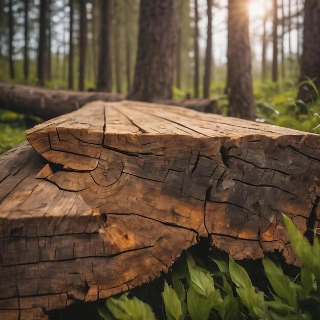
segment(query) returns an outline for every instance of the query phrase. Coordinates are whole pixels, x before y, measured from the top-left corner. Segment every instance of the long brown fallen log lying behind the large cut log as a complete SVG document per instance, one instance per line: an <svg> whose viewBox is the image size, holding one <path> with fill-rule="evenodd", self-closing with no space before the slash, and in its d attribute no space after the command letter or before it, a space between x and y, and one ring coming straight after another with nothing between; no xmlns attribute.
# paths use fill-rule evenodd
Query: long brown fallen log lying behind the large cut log
<svg viewBox="0 0 320 320"><path fill-rule="evenodd" d="M104 92L75 92L0 82L0 108L49 120L81 108L88 102L121 101L125 95ZM220 114L216 100L159 100L157 103L176 105L193 110Z"/></svg>

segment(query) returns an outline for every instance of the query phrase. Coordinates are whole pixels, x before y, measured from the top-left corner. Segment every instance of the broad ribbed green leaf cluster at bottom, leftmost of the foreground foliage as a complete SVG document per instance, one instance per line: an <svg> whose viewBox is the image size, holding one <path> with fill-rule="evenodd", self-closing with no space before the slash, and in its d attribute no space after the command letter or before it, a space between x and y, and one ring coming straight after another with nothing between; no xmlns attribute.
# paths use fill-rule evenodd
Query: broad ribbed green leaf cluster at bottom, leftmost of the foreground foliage
<svg viewBox="0 0 320 320"><path fill-rule="evenodd" d="M128 299L127 295L128 293L125 293L118 299L107 299L106 306L113 317L117 320L155 320L149 305L136 297Z"/></svg>

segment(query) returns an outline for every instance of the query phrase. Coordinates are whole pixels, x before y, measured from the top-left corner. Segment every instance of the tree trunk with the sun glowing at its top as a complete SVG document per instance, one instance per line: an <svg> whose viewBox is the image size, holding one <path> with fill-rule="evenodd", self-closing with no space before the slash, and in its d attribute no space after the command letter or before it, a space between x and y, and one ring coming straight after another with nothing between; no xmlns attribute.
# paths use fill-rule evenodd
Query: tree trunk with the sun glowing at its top
<svg viewBox="0 0 320 320"><path fill-rule="evenodd" d="M228 2L227 60L228 116L254 120L248 0Z"/></svg>

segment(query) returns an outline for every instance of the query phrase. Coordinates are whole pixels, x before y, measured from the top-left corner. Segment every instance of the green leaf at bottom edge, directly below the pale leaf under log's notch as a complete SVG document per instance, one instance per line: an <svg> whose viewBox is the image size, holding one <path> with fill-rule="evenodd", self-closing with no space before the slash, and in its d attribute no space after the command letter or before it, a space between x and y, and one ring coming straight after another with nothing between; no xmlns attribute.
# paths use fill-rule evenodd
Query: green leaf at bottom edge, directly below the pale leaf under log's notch
<svg viewBox="0 0 320 320"><path fill-rule="evenodd" d="M187 307L191 320L208 320L212 307L213 292L208 298L197 293L191 286L187 293Z"/></svg>

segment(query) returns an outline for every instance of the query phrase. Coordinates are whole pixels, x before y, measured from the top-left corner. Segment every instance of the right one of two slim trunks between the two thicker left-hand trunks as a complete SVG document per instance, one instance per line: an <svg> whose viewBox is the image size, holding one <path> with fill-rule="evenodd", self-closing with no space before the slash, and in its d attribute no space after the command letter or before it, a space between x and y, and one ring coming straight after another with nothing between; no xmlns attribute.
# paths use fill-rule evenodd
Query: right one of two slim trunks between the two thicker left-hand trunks
<svg viewBox="0 0 320 320"><path fill-rule="evenodd" d="M79 0L80 37L79 37L79 91L84 91L85 62L87 48L87 10L86 0Z"/></svg>

